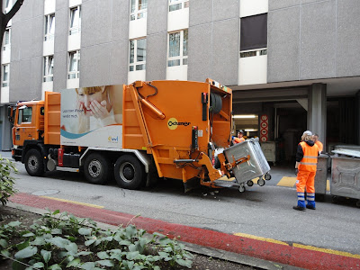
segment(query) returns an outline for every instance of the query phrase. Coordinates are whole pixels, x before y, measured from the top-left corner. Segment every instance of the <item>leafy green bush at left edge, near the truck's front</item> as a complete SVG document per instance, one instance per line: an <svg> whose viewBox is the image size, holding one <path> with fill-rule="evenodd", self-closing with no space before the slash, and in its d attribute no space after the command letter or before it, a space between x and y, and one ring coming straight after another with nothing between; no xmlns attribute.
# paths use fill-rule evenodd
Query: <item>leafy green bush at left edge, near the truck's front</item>
<svg viewBox="0 0 360 270"><path fill-rule="evenodd" d="M14 176L11 173L17 173L14 163L9 159L0 157L0 202L5 205L9 197L16 193L14 189Z"/></svg>

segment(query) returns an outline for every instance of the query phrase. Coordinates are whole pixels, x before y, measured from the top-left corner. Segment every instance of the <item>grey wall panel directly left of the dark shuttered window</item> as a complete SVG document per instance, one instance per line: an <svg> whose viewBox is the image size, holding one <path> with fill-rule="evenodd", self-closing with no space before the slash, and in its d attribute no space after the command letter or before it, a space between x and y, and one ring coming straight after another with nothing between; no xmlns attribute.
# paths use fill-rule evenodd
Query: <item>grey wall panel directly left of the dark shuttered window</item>
<svg viewBox="0 0 360 270"><path fill-rule="evenodd" d="M237 85L238 18L237 0L190 3L188 80Z"/></svg>

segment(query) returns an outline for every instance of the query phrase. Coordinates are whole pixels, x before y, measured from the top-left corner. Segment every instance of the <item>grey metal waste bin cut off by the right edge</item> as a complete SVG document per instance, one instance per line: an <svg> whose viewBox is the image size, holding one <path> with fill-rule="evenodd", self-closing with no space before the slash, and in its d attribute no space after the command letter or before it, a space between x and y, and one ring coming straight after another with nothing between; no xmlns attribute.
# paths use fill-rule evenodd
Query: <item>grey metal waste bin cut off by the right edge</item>
<svg viewBox="0 0 360 270"><path fill-rule="evenodd" d="M331 195L360 200L360 158L331 156L331 160Z"/></svg>

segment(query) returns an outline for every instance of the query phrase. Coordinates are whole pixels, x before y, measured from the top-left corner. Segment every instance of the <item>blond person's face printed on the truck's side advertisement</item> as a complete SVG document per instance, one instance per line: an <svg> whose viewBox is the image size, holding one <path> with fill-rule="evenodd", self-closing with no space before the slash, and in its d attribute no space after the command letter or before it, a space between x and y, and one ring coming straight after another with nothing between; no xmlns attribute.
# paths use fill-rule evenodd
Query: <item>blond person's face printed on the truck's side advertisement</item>
<svg viewBox="0 0 360 270"><path fill-rule="evenodd" d="M77 100L83 104L85 112L91 112L90 104L94 101L101 103L106 100L105 86L76 88Z"/></svg>

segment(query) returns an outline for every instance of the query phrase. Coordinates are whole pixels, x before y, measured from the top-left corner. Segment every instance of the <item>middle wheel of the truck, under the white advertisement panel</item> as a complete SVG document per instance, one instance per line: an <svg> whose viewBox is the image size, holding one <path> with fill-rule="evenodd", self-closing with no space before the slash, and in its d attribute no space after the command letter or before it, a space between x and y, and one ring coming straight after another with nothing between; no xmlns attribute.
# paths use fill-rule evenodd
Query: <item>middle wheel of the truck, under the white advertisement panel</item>
<svg viewBox="0 0 360 270"><path fill-rule="evenodd" d="M91 184L105 184L109 179L110 162L98 153L90 154L85 159L84 174Z"/></svg>

